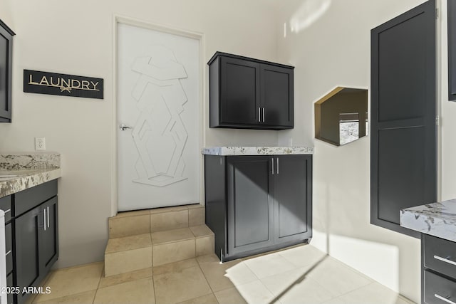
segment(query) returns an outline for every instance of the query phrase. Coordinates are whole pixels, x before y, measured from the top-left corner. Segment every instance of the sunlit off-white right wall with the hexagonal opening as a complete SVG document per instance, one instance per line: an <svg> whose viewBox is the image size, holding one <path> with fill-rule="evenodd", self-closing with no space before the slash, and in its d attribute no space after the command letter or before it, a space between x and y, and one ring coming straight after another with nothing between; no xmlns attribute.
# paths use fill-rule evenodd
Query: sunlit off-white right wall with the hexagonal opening
<svg viewBox="0 0 456 304"><path fill-rule="evenodd" d="M370 89L371 28L423 2L290 0L278 21L282 31L286 23L286 33L279 33L279 58L296 66L295 117L299 117L294 130L279 135L279 142L291 138L294 145L315 145L311 243L417 303L420 241L370 224L371 138L343 147L314 140L313 110L314 102L336 86ZM307 27L296 31L309 20ZM449 123L454 130L456 122ZM454 141L447 145L456 149Z"/></svg>

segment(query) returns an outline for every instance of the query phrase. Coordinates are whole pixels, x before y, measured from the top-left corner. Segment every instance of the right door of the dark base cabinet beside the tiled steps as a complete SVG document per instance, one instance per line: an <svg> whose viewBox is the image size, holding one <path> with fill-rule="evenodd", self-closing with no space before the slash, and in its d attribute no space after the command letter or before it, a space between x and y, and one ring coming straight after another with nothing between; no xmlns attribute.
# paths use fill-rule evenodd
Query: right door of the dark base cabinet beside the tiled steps
<svg viewBox="0 0 456 304"><path fill-rule="evenodd" d="M311 155L274 157L274 238L276 243L311 237Z"/></svg>

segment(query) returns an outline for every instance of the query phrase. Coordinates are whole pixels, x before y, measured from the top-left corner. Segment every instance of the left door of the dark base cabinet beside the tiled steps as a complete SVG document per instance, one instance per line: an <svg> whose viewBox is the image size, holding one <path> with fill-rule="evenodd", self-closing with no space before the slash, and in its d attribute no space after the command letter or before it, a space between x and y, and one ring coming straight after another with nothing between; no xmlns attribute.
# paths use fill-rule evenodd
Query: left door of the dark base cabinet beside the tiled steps
<svg viewBox="0 0 456 304"><path fill-rule="evenodd" d="M271 157L227 161L228 254L272 245Z"/></svg>

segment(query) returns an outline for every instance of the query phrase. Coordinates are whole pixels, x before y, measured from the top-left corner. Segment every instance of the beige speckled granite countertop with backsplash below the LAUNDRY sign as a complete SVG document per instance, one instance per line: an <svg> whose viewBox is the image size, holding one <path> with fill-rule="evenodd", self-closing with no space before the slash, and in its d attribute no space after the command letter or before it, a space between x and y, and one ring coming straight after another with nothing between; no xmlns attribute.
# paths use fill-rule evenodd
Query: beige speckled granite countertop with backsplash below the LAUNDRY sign
<svg viewBox="0 0 456 304"><path fill-rule="evenodd" d="M58 153L0 154L0 197L61 177Z"/></svg>

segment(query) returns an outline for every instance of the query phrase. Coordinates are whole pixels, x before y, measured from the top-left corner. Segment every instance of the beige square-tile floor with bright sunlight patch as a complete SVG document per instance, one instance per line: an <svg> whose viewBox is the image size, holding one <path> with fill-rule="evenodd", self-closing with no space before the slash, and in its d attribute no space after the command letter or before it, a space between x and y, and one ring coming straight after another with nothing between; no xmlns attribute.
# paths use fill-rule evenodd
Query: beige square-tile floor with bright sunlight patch
<svg viewBox="0 0 456 304"><path fill-rule="evenodd" d="M319 263L320 262L320 263ZM51 303L409 304L311 245L220 264L214 255L103 276L103 262L52 271Z"/></svg>

